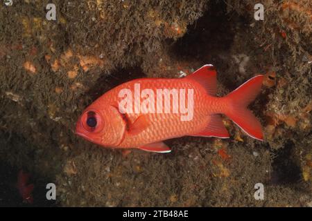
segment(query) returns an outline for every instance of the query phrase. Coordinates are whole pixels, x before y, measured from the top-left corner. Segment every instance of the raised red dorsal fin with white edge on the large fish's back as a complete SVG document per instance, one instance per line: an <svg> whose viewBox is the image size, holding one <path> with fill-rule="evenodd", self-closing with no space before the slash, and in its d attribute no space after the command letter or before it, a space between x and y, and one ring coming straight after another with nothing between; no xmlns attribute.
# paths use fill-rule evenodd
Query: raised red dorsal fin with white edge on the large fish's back
<svg viewBox="0 0 312 221"><path fill-rule="evenodd" d="M206 89L209 95L216 95L216 68L212 64L202 66L185 78L197 81Z"/></svg>

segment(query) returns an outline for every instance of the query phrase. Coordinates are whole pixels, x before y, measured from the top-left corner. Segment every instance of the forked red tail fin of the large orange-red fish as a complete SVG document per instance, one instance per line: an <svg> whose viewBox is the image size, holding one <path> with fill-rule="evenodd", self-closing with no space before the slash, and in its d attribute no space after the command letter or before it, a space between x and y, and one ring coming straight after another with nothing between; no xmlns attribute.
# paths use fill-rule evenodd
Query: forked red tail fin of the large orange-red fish
<svg viewBox="0 0 312 221"><path fill-rule="evenodd" d="M250 137L257 140L263 140L262 127L247 106L260 93L262 81L263 75L252 77L225 97L229 104L225 115L231 118Z"/></svg>

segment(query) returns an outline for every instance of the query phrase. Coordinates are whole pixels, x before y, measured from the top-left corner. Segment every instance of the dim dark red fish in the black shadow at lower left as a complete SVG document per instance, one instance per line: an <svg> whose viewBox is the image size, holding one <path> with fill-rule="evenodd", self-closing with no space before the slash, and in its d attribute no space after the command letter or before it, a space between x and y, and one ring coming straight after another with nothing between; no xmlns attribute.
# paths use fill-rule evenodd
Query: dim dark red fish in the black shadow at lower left
<svg viewBox="0 0 312 221"><path fill-rule="evenodd" d="M19 194L21 195L21 198L23 198L24 202L33 204L33 195L31 195L31 193L33 192L34 185L27 184L29 177L29 173L24 173L22 170L19 171L17 176L17 189L19 189Z"/></svg>

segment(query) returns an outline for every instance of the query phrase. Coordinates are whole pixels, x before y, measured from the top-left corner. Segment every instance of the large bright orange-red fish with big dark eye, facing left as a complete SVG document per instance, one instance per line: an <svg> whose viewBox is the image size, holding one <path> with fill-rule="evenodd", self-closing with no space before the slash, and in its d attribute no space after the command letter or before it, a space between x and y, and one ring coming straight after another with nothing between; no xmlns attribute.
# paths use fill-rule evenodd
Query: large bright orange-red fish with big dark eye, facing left
<svg viewBox="0 0 312 221"><path fill-rule="evenodd" d="M261 124L247 106L261 91L257 75L225 97L216 96L216 70L205 65L180 79L142 78L125 82L96 99L79 117L76 134L114 148L168 153L174 137L228 138L220 114L263 140Z"/></svg>

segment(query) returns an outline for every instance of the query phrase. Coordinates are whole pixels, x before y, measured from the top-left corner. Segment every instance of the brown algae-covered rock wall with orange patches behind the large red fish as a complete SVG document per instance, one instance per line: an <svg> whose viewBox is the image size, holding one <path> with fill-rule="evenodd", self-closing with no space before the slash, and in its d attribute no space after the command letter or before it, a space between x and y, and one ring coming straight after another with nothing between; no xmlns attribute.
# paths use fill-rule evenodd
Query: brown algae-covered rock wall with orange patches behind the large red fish
<svg viewBox="0 0 312 221"><path fill-rule="evenodd" d="M33 176L35 206L55 205L48 182L58 206L311 204L311 1L263 1L263 21L257 1L53 1L56 21L48 3L0 4L0 204L24 205L19 169ZM170 154L101 148L73 133L110 88L204 64L218 70L218 96L265 75L250 106L263 142L226 117L231 138L169 140Z"/></svg>

